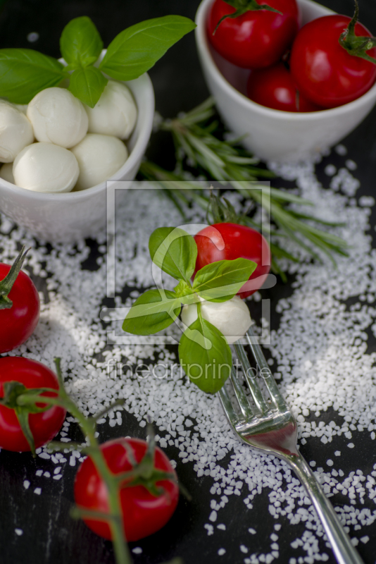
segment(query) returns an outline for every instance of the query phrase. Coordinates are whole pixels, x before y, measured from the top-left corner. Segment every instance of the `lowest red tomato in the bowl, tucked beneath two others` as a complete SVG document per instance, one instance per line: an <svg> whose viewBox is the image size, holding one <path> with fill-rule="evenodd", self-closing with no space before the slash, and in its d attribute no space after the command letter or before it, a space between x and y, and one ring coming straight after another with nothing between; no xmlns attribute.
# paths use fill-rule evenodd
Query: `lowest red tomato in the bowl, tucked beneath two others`
<svg viewBox="0 0 376 564"><path fill-rule="evenodd" d="M322 109L298 92L292 75L283 63L252 71L247 93L253 102L275 110L302 112Z"/></svg>

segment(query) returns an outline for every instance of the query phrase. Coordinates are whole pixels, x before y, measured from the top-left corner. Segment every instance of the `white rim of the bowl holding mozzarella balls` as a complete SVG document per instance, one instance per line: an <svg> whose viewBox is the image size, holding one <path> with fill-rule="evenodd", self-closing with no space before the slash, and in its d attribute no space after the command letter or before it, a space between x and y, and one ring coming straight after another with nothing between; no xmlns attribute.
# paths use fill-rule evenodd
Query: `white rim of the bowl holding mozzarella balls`
<svg viewBox="0 0 376 564"><path fill-rule="evenodd" d="M144 87L146 88L146 94L148 97L149 104L147 104L146 108L143 111L142 120L144 122L144 127L139 133L137 141L130 152L129 157L123 164L121 168L115 173L114 176L123 176L124 173L128 170L132 170L137 161L139 161L140 154L144 154L146 145L149 143L151 130L153 128L153 118L154 118L154 91L153 91L153 84L148 73L144 73L139 78L135 80L139 80L140 82L144 82ZM150 103L151 102L151 103ZM1 190L8 190L8 194L11 196L12 194L22 195L23 197L28 197L30 200L40 200L41 203L47 202L78 202L80 200L84 201L87 198L90 198L92 195L97 194L98 192L102 192L106 190L107 182L110 180L115 180L115 178L108 178L105 182L101 182L100 184L96 184L91 188L87 188L86 190L80 190L78 192L63 192L62 194L54 194L53 192L34 192L33 190L27 190L26 188L21 188L8 180L4 180L4 178L0 178L1 183ZM121 180L118 180L121 182Z"/></svg>

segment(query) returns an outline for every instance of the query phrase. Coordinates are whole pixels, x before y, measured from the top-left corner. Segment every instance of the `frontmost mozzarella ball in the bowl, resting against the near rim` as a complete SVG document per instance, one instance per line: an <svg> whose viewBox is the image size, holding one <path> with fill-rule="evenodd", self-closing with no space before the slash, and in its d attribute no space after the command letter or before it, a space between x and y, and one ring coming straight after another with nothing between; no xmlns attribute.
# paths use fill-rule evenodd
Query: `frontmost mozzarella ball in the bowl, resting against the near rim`
<svg viewBox="0 0 376 564"><path fill-rule="evenodd" d="M52 143L33 143L13 164L15 184L34 192L70 192L80 169L75 155Z"/></svg>

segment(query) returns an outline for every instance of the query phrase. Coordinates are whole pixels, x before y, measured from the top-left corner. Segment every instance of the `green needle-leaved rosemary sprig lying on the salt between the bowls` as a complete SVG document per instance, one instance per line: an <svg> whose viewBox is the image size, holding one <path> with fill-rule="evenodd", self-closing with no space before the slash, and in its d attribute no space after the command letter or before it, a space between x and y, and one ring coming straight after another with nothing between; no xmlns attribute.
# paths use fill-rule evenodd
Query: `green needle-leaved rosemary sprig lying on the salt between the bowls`
<svg viewBox="0 0 376 564"><path fill-rule="evenodd" d="M162 186L165 194L173 200L183 217L185 217L184 210L192 202L196 202L202 209L208 208L208 195L205 191L199 190L197 183L194 182L203 177L206 180L230 185L246 200L253 202L253 207L263 205L264 212L269 214L276 227L275 230L270 231L272 269L282 276L282 269L278 265L279 259L298 261L281 246L280 239L283 237L294 240L315 259L320 259L319 251L324 252L334 265L333 255L346 256L347 243L337 235L318 227L319 225L334 227L342 224L324 221L308 213L296 212L289 204L313 206L313 202L285 190L270 188L270 198L262 198L262 190L255 188L263 188L263 186L255 184L256 180L273 178L275 175L257 166L258 159L240 147L241 138L230 140L219 135L219 127L220 122L216 118L213 98L208 98L206 102L184 116L161 121L159 129L173 135L177 161L175 171L165 171L161 166L146 160L142 163L140 172L144 178L157 181ZM192 181L189 181L189 178ZM243 216L240 221L261 228L249 216Z"/></svg>

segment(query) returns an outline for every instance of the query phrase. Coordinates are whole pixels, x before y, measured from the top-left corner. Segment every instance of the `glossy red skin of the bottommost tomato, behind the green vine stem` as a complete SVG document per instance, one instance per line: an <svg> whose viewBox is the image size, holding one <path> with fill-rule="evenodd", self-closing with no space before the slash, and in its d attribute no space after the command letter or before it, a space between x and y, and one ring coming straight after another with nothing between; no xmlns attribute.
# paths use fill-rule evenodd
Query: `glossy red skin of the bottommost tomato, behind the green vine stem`
<svg viewBox="0 0 376 564"><path fill-rule="evenodd" d="M127 443L133 450L134 458L142 460L147 444L140 439L113 439L101 445L108 467L114 474L127 472L132 469L128 462ZM154 457L155 467L165 472L175 474L163 451L156 447ZM161 529L170 520L177 506L179 488L175 482L163 480L157 486L164 489L161 496L152 496L144 486L123 487L120 491L120 501L123 509L124 533L127 541L138 541L149 537ZM75 477L75 502L80 507L109 512L107 490L104 482L94 466L91 458L86 458ZM96 534L111 540L110 527L106 522L85 519L84 522Z"/></svg>

